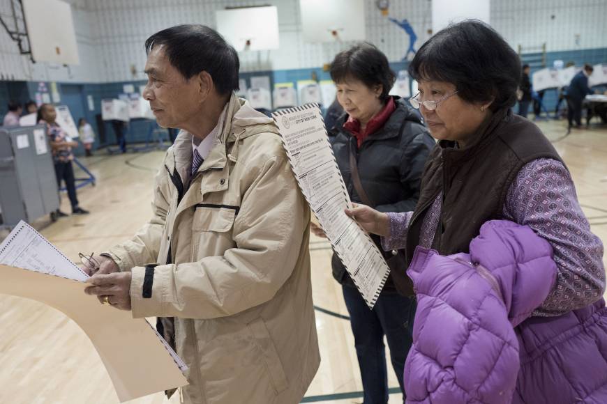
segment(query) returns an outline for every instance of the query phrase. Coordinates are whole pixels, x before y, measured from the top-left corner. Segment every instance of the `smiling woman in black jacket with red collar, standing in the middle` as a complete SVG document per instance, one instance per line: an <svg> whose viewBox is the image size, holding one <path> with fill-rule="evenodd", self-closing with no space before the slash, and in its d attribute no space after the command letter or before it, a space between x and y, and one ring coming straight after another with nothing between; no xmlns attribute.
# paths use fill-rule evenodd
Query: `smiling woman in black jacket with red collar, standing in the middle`
<svg viewBox="0 0 607 404"><path fill-rule="evenodd" d="M350 199L382 212L412 210L426 157L435 142L417 111L388 94L395 76L386 56L368 43L354 46L335 57L331 78L345 114L329 128L330 141ZM316 226L312 230L324 235ZM379 238L374 240L380 245ZM412 343L414 297L400 295L391 275L369 310L336 254L331 264L350 313L364 403L388 401L384 336L404 401L403 368ZM400 277L406 276L404 264L391 266L402 272Z"/></svg>

